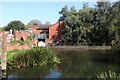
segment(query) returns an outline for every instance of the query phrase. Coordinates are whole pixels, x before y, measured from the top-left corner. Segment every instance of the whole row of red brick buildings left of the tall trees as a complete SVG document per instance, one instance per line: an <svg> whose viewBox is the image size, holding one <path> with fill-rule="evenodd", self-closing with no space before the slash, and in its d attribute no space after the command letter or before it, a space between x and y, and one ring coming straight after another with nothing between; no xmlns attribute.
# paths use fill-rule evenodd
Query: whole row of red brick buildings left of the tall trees
<svg viewBox="0 0 120 80"><path fill-rule="evenodd" d="M32 44L36 44L40 41L45 42L46 44L52 43L59 43L61 41L62 30L63 30L64 23L62 21L57 22L53 25L33 25L29 30L20 30L14 31L13 36L11 37L12 33L7 32L8 37L16 39L20 41L21 38L25 41L29 35L34 35L34 39ZM0 37L4 35L5 32L0 32ZM10 39L10 40L12 40Z"/></svg>

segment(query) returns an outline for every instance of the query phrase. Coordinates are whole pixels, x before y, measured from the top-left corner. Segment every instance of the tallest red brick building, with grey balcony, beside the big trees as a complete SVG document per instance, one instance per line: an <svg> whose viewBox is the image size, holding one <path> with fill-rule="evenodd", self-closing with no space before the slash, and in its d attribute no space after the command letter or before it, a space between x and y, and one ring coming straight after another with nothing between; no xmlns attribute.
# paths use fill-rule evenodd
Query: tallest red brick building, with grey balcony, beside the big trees
<svg viewBox="0 0 120 80"><path fill-rule="evenodd" d="M45 43L59 43L62 36L64 23L62 21L57 22L50 26L32 26L32 33L35 34L35 38Z"/></svg>

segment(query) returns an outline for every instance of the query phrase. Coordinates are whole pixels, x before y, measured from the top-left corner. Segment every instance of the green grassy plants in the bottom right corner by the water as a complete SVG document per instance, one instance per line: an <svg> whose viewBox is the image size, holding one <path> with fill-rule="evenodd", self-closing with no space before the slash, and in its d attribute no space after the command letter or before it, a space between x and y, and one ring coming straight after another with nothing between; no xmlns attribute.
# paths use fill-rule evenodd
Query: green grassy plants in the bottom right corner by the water
<svg viewBox="0 0 120 80"><path fill-rule="evenodd" d="M120 79L120 73L116 73L116 72L112 72L112 71L109 71L109 72L99 72L97 73L97 78L100 79L100 80L103 80L103 79Z"/></svg>

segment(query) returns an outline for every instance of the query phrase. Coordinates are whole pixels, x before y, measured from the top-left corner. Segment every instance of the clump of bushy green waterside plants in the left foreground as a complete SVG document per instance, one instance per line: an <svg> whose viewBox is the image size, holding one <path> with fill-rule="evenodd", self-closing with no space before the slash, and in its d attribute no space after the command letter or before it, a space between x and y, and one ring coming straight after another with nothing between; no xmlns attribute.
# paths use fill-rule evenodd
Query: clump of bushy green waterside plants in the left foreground
<svg viewBox="0 0 120 80"><path fill-rule="evenodd" d="M12 50L7 53L7 69L43 66L59 63L60 59L48 48L30 50Z"/></svg>

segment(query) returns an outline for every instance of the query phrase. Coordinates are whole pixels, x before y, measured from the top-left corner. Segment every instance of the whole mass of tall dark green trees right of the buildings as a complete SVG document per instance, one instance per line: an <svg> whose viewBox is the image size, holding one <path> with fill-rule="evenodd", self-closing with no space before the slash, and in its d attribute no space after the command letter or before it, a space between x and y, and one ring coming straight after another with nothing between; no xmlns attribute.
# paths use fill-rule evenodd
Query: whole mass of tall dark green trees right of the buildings
<svg viewBox="0 0 120 80"><path fill-rule="evenodd" d="M70 45L114 45L120 38L120 1L97 2L94 8L65 6L59 21L64 21L62 42Z"/></svg>

